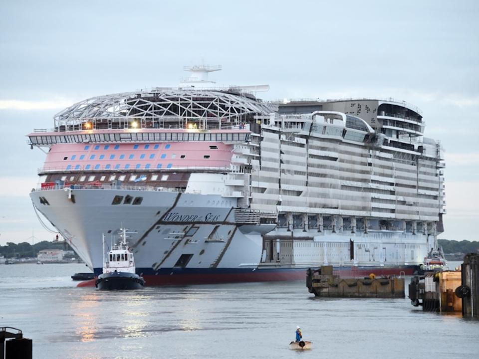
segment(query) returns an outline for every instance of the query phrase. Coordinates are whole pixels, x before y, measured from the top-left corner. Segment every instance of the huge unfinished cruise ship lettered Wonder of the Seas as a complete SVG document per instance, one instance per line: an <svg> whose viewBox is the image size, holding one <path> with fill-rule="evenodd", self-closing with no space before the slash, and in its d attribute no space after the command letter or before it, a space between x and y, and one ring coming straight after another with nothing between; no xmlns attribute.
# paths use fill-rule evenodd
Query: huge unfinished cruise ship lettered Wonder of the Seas
<svg viewBox="0 0 479 359"><path fill-rule="evenodd" d="M147 285L412 274L443 231L445 164L421 111L374 98L262 101L218 88L93 97L35 129L35 211L97 275L129 238ZM39 216L41 218L41 216Z"/></svg>

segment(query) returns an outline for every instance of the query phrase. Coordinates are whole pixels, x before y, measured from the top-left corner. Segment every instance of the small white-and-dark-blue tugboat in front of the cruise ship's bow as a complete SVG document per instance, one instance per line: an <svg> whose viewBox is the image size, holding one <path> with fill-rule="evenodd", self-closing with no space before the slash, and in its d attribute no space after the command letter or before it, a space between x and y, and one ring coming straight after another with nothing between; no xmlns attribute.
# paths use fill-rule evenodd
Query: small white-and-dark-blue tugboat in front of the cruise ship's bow
<svg viewBox="0 0 479 359"><path fill-rule="evenodd" d="M112 245L106 258L103 257L103 273L95 281L95 287L100 290L140 289L145 285L143 277L135 273L133 253L126 242L127 230L120 230L119 243ZM105 236L102 237L104 247Z"/></svg>

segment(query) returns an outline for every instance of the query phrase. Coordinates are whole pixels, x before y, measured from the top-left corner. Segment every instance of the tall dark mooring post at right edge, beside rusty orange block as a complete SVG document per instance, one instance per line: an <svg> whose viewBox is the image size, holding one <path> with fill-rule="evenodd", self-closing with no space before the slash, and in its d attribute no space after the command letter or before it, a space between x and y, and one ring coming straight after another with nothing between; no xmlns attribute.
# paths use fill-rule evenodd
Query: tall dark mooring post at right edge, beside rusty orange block
<svg viewBox="0 0 479 359"><path fill-rule="evenodd" d="M463 317L479 318L479 254L469 253L462 264ZM458 288L456 291L460 289Z"/></svg>

